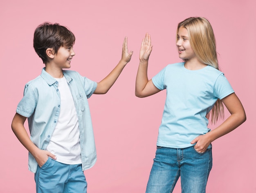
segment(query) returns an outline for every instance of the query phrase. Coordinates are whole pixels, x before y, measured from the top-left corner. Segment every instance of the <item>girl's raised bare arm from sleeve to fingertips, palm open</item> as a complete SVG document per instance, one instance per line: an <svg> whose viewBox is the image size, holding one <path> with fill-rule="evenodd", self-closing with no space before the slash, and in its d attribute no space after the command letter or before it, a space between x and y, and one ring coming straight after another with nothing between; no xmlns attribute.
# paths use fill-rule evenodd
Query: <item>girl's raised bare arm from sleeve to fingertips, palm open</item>
<svg viewBox="0 0 256 193"><path fill-rule="evenodd" d="M152 79L148 81L148 58L152 51L151 38L146 33L141 43L139 52L139 68L136 76L135 95L138 97L146 97L159 92L160 90L155 87Z"/></svg>

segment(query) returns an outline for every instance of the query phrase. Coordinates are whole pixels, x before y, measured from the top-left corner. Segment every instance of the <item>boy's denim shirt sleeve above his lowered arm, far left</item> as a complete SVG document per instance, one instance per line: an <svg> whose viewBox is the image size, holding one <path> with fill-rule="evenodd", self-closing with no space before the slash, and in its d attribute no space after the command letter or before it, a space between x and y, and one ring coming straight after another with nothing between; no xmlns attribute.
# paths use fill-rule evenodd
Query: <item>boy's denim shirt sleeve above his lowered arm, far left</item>
<svg viewBox="0 0 256 193"><path fill-rule="evenodd" d="M24 96L18 103L16 112L23 117L30 117L36 108L36 97L31 85L26 84L24 88Z"/></svg>

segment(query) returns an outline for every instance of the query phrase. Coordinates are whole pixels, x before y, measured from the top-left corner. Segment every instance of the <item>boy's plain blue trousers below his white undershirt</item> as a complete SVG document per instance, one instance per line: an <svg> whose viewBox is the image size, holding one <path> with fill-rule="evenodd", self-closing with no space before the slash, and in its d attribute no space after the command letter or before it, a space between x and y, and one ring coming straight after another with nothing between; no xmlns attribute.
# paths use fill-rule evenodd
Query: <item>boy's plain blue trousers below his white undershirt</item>
<svg viewBox="0 0 256 193"><path fill-rule="evenodd" d="M82 164L69 165L48 158L35 173L36 193L86 193Z"/></svg>

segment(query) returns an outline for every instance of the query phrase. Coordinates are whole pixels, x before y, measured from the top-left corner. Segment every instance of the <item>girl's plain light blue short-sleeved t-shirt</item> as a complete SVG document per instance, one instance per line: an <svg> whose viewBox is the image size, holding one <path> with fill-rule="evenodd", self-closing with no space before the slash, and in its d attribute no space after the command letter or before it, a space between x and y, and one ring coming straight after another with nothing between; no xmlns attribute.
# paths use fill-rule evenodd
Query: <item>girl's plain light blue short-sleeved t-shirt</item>
<svg viewBox="0 0 256 193"><path fill-rule="evenodd" d="M224 74L209 65L200 70L187 70L184 63L167 65L152 81L166 89L157 146L169 148L193 146L195 137L210 131L205 116L217 99L234 92Z"/></svg>

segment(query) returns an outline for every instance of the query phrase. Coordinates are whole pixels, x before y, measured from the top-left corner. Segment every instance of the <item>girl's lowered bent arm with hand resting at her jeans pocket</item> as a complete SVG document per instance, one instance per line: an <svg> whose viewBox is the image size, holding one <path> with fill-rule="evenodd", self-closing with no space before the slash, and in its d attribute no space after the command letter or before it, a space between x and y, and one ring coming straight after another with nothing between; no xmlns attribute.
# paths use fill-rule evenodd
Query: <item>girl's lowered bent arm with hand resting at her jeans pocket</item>
<svg viewBox="0 0 256 193"><path fill-rule="evenodd" d="M196 143L195 150L200 153L204 152L212 141L231 132L246 120L243 105L235 93L226 96L222 99L222 102L227 107L231 115L214 130L211 130L205 135L200 135L191 141L191 144Z"/></svg>

